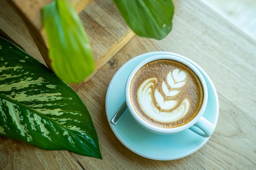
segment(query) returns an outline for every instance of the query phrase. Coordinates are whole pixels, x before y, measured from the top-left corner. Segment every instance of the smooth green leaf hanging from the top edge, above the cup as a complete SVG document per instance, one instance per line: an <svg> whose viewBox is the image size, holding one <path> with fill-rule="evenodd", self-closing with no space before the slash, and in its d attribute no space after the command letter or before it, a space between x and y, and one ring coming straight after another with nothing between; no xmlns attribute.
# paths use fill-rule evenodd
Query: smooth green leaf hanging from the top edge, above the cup
<svg viewBox="0 0 256 170"><path fill-rule="evenodd" d="M114 0L128 26L139 36L161 40L171 31L172 0Z"/></svg>

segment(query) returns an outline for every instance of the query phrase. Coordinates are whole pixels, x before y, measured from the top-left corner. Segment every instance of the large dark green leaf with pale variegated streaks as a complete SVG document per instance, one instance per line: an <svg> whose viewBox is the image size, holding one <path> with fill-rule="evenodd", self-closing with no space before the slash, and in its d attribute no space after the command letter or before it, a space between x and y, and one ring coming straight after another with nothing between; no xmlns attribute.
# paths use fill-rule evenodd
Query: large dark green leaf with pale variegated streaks
<svg viewBox="0 0 256 170"><path fill-rule="evenodd" d="M101 158L90 114L38 60L0 38L0 135L48 150Z"/></svg>

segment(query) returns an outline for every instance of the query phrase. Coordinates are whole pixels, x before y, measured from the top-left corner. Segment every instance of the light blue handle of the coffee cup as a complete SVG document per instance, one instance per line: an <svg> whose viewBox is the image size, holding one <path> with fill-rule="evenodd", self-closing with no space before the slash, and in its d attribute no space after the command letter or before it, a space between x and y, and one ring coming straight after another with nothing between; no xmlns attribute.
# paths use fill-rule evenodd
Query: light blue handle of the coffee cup
<svg viewBox="0 0 256 170"><path fill-rule="evenodd" d="M193 126L191 126L189 130L192 130L202 137L210 137L215 128L207 119L200 117L200 119Z"/></svg>

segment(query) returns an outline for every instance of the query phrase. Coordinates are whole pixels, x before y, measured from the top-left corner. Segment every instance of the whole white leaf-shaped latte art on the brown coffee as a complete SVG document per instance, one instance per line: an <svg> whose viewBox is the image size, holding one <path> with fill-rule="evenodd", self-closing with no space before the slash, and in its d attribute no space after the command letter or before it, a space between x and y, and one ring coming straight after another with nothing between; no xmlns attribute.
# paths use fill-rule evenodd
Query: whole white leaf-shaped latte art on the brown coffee
<svg viewBox="0 0 256 170"><path fill-rule="evenodd" d="M168 100L168 97L173 97L177 95L182 86L186 83L186 73L175 69L172 72L169 72L166 78L167 84L170 86L170 89L165 82L162 82L162 91L164 92L163 96L158 89L153 91L154 86L156 86L158 79L150 78L144 81L138 89L138 102L139 106L143 112L159 122L170 122L181 119L186 115L189 110L189 100L184 99L180 106L177 106L176 100ZM153 102L153 101L156 101Z"/></svg>

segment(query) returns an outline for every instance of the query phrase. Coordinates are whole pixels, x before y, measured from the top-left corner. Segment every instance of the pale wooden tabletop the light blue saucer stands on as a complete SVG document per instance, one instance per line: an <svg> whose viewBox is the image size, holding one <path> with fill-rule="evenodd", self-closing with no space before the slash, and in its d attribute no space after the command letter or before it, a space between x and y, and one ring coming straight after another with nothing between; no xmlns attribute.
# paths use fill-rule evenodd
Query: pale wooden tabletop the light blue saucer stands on
<svg viewBox="0 0 256 170"><path fill-rule="evenodd" d="M0 137L1 170L256 169L256 41L198 0L176 0L173 30L164 40L135 36L77 93L88 107L103 160L49 151ZM155 161L126 148L110 129L105 97L112 76L131 58L150 51L179 53L207 72L218 92L216 131L198 151ZM110 66L111 65L111 66Z"/></svg>

